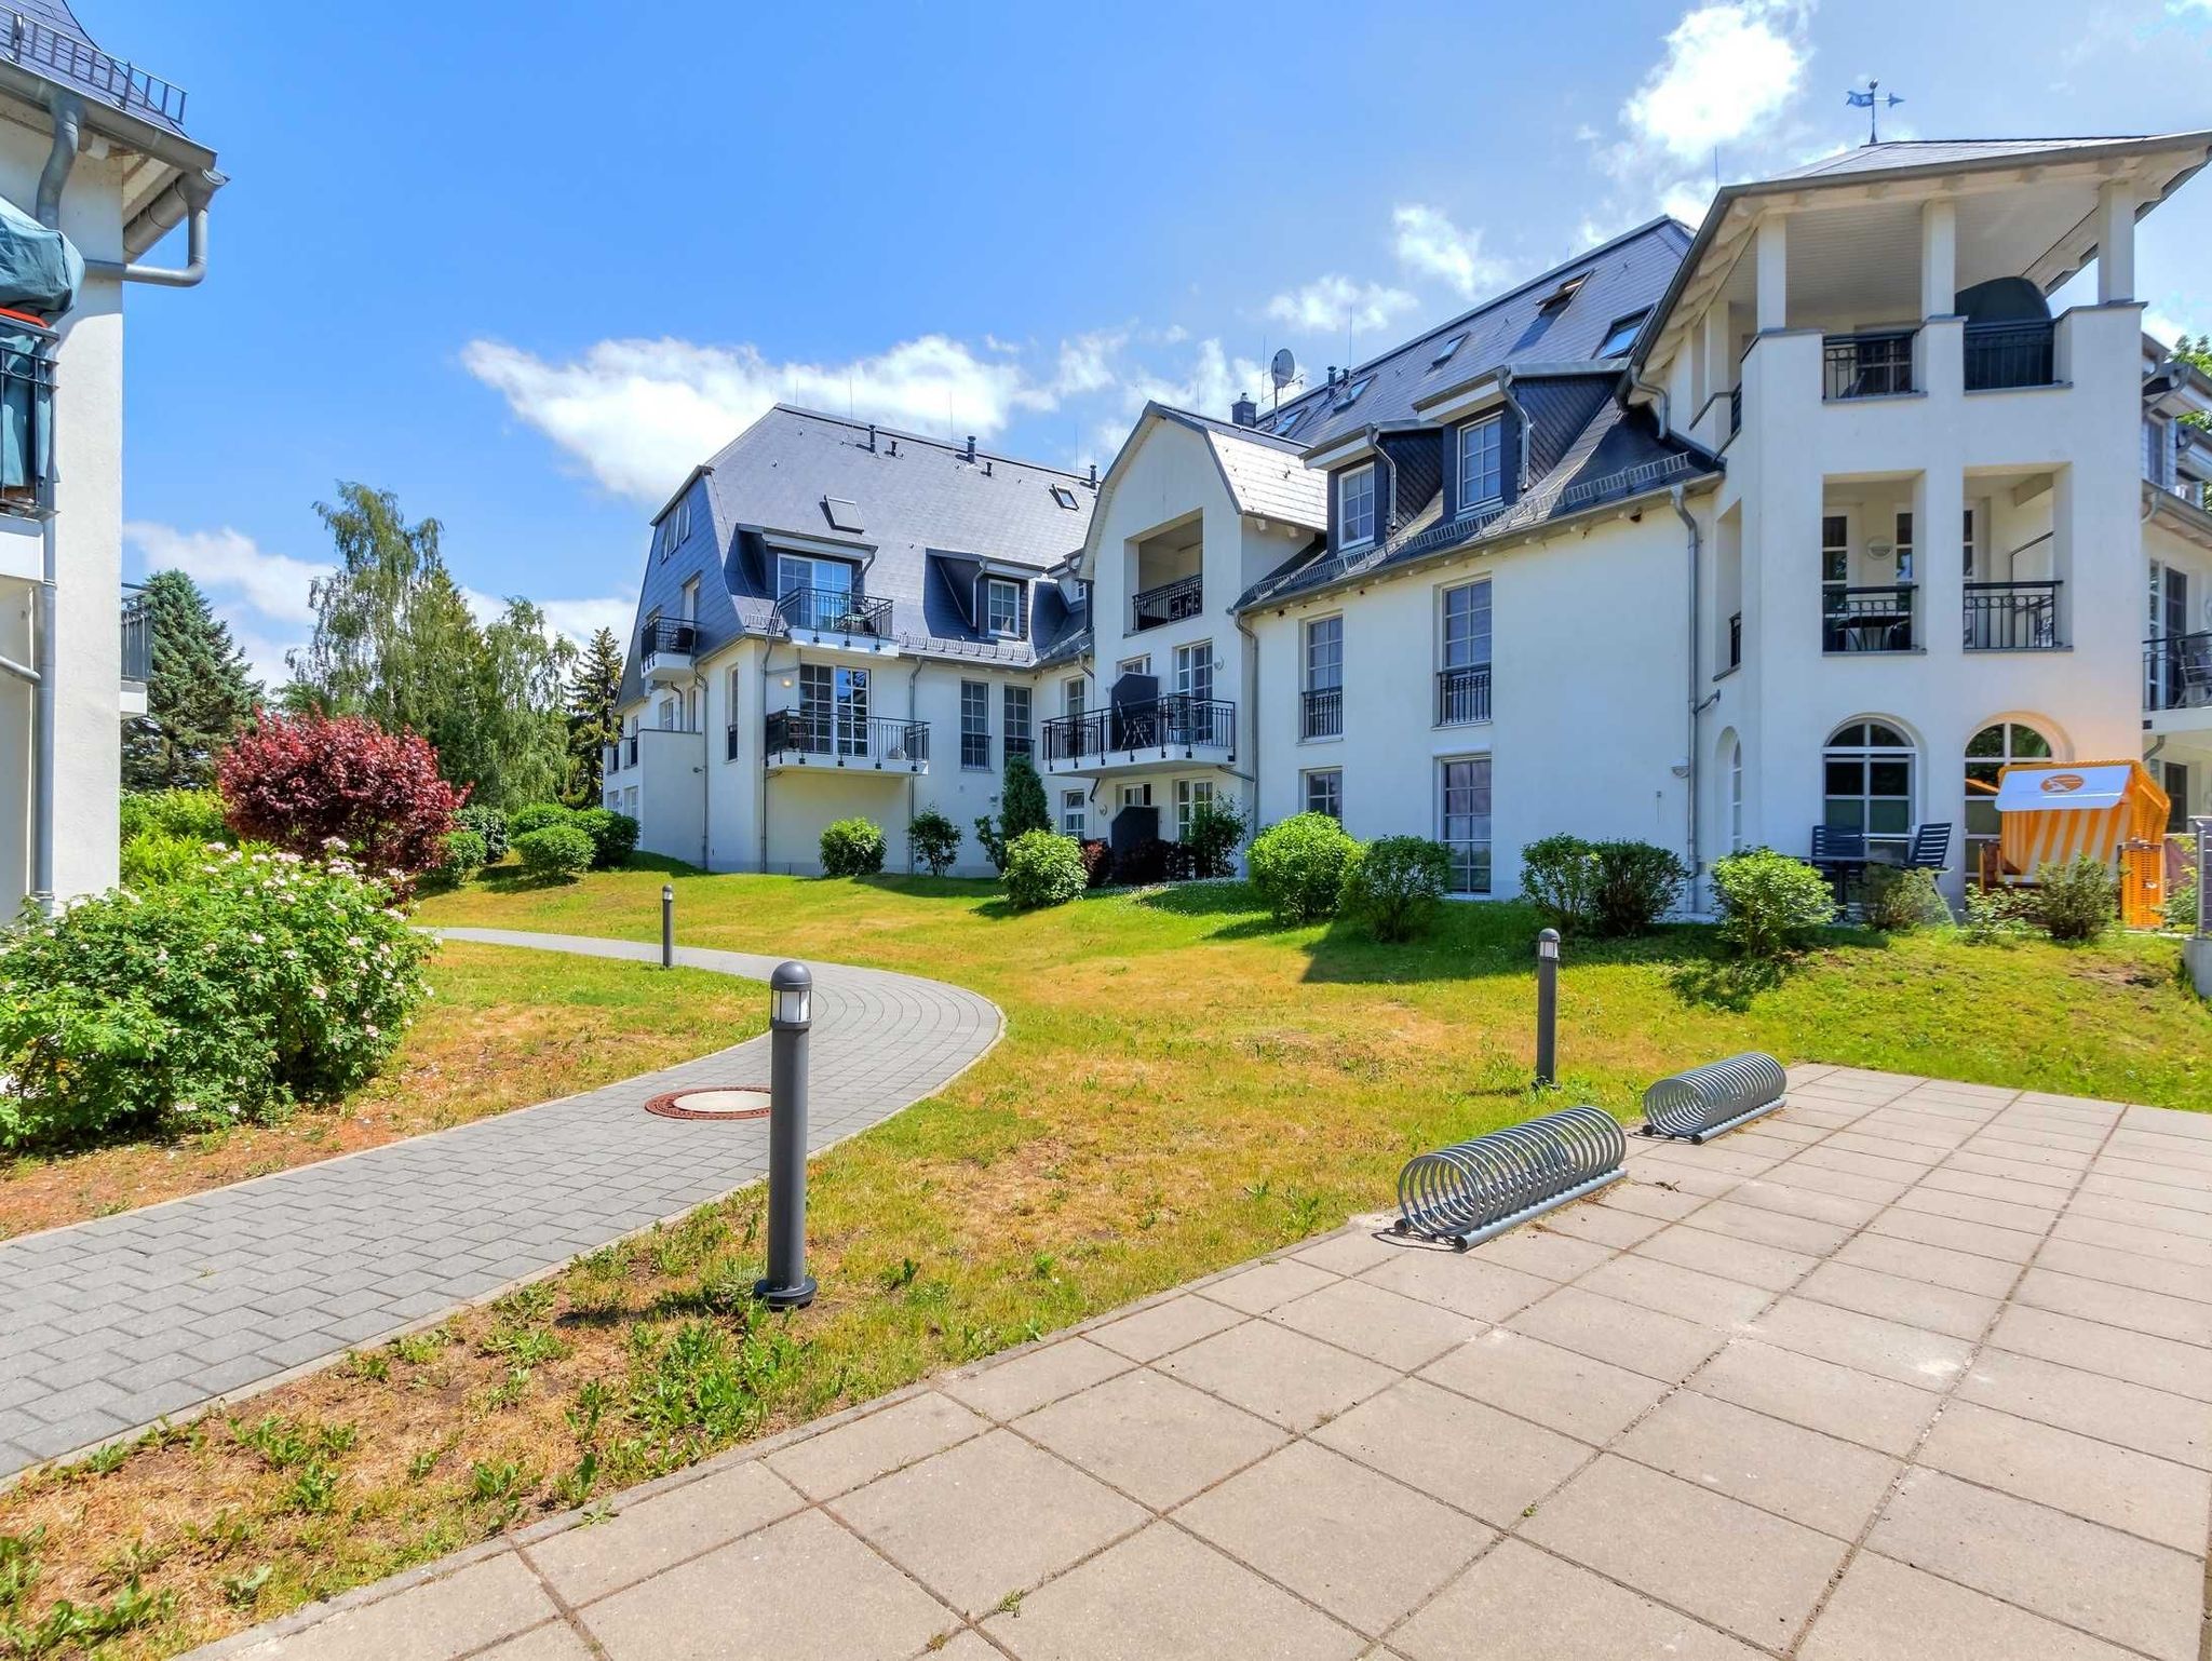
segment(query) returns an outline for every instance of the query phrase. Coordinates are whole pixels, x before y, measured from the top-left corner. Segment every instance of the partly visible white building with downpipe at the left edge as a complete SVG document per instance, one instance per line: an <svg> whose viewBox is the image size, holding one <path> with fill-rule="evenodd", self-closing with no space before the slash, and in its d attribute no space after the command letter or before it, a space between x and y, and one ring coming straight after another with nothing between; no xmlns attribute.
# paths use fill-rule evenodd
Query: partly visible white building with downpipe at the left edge
<svg viewBox="0 0 2212 1661"><path fill-rule="evenodd" d="M124 285L199 281L223 184L184 106L69 0L0 13L4 263L82 257L44 305L0 296L0 920L115 885L122 717L144 712L148 664L144 617L126 604L117 626ZM142 263L184 221L186 265Z"/></svg>

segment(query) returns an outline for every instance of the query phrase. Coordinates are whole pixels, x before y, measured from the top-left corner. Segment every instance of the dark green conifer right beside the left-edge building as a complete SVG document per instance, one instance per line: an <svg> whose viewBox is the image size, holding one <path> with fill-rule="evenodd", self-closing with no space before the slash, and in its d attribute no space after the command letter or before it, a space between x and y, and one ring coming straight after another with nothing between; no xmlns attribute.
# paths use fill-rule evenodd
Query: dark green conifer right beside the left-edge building
<svg viewBox="0 0 2212 1661"><path fill-rule="evenodd" d="M215 756L252 717L261 686L188 575L153 573L142 604L153 672L146 714L124 719L124 790L206 790Z"/></svg>

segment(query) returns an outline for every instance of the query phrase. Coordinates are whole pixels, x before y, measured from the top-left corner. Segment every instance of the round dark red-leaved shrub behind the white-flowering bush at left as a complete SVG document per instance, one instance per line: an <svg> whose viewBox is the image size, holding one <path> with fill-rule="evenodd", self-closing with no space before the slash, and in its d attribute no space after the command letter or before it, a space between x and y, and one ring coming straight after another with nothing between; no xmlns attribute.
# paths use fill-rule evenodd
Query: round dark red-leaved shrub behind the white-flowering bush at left
<svg viewBox="0 0 2212 1661"><path fill-rule="evenodd" d="M438 752L414 732L365 717L299 721L259 712L215 776L223 821L239 836L319 858L330 838L380 876L438 865L465 792L438 776Z"/></svg>

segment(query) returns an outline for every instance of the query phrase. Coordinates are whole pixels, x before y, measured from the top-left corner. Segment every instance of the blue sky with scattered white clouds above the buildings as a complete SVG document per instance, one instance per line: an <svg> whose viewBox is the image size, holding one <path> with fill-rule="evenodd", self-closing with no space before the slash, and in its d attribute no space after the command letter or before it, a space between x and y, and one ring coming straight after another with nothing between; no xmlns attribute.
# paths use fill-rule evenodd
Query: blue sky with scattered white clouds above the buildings
<svg viewBox="0 0 2212 1661"><path fill-rule="evenodd" d="M80 15L232 175L206 285L131 294L126 575L190 568L270 677L341 478L622 630L648 515L774 398L1104 464L1148 396L1694 221L1714 148L1856 142L1867 75L1893 137L2212 124L2212 0ZM2143 228L2154 325L2212 327L2208 248L2199 179Z"/></svg>

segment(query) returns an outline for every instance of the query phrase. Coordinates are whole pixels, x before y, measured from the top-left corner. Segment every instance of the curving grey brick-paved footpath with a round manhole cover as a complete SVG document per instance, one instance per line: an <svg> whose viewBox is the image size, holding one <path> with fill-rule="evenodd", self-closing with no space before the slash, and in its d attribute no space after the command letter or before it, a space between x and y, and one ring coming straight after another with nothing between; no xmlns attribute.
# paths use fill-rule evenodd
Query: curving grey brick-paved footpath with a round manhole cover
<svg viewBox="0 0 2212 1661"><path fill-rule="evenodd" d="M659 962L659 947L624 940L442 933ZM690 949L677 960L748 980L781 962ZM810 969L816 1150L931 1095L998 1042L998 1006L975 993L880 969ZM759 1179L765 1119L641 1110L703 1084L765 1088L768 1037L0 1243L0 1475L265 1389Z"/></svg>

